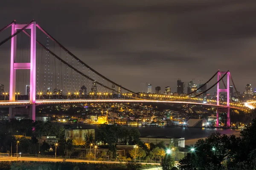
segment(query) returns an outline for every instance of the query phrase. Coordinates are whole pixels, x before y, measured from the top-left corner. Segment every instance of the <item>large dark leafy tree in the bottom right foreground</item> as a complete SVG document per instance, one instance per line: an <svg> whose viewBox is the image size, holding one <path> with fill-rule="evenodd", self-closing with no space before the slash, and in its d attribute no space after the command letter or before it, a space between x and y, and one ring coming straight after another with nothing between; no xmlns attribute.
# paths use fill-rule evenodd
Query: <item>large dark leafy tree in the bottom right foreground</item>
<svg viewBox="0 0 256 170"><path fill-rule="evenodd" d="M195 143L195 150L188 153L180 161L181 170L205 170L206 168L221 168L224 160L233 162L236 159L241 140L235 136L212 133L205 140L200 139Z"/></svg>

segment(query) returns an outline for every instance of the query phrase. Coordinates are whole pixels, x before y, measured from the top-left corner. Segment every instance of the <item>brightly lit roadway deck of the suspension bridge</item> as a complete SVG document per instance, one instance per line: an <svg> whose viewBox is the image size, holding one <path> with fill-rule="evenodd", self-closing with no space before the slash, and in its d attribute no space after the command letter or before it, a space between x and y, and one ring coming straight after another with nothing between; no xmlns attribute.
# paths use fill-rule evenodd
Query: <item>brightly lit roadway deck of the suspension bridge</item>
<svg viewBox="0 0 256 170"><path fill-rule="evenodd" d="M49 104L65 104L65 103L170 103L170 104L191 104L191 105L204 105L218 108L227 108L225 105L216 105L211 103L187 102L187 101L166 101L166 100L146 100L146 99L49 99L49 100L36 100L36 105L49 105ZM23 107L31 105L28 100L18 100L15 102L0 101L1 107ZM230 105L230 108L244 109L243 106Z"/></svg>

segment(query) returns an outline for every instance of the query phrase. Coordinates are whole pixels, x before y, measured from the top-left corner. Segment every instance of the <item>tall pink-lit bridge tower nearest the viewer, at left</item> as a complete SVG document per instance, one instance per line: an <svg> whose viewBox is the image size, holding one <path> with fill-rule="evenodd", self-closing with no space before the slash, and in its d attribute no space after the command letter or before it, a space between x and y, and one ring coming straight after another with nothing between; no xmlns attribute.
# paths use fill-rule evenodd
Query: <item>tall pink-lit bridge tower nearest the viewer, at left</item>
<svg viewBox="0 0 256 170"><path fill-rule="evenodd" d="M12 35L17 32L17 29L22 29L27 24L12 24ZM15 85L16 85L16 70L30 69L30 94L29 100L32 107L30 107L30 119L35 121L35 94L36 94L36 22L32 22L26 29L31 29L31 43L30 43L30 62L18 63L16 61L17 51L17 37L11 39L11 67L10 67L10 94L9 101L15 101ZM9 108L9 119L13 118L13 108Z"/></svg>

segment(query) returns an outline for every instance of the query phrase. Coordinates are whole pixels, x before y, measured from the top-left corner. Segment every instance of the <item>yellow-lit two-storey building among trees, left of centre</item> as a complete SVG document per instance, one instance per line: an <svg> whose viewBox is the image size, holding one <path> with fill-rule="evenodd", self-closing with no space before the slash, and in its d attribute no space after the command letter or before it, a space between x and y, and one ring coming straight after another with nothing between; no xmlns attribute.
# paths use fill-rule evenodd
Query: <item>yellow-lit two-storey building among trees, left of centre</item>
<svg viewBox="0 0 256 170"><path fill-rule="evenodd" d="M76 143L76 145L84 144L86 136L88 136L88 137L92 136L93 139L95 139L95 130L94 129L82 129L82 128L65 129L66 141L68 139L71 139Z"/></svg>

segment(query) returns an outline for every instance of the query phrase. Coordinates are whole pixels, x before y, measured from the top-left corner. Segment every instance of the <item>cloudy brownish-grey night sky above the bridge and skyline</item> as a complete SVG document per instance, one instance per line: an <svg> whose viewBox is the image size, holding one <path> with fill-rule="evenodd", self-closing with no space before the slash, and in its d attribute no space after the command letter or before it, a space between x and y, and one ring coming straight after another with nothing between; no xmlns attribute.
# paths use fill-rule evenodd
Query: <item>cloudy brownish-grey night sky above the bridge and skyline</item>
<svg viewBox="0 0 256 170"><path fill-rule="evenodd" d="M0 28L35 19L92 68L133 91L145 92L151 83L176 92L177 78L200 83L218 69L230 70L238 91L248 83L256 88L255 0L2 0L0 16ZM0 48L6 88L9 55Z"/></svg>

